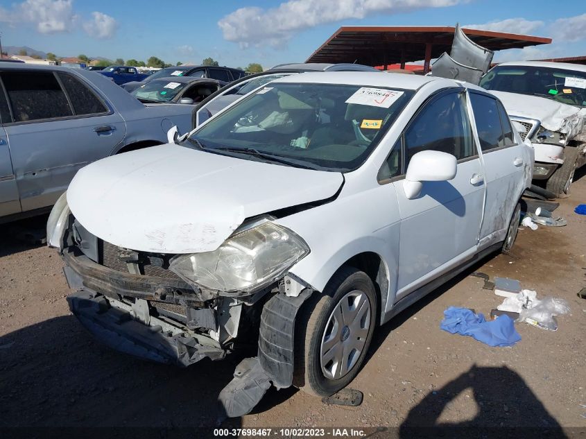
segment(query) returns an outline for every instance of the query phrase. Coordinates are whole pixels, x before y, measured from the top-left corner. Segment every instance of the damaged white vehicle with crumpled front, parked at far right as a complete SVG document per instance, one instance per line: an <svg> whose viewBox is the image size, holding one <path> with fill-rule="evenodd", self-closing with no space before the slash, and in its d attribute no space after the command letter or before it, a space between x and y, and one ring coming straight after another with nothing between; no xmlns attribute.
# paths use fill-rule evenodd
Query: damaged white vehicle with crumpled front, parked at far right
<svg viewBox="0 0 586 439"><path fill-rule="evenodd" d="M586 163L586 66L503 62L480 85L500 98L522 139L535 147L533 178L558 196L569 193Z"/></svg>

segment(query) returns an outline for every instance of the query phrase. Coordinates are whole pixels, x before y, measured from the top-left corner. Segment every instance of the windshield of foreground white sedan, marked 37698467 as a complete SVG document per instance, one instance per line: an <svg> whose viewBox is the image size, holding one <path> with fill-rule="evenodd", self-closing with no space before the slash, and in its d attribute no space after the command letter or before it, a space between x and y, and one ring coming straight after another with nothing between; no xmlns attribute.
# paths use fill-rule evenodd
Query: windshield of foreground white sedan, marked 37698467
<svg viewBox="0 0 586 439"><path fill-rule="evenodd" d="M366 160L413 91L337 84L272 83L193 133L208 150L279 157L291 166L352 171ZM195 141L193 141L193 139ZM254 154L252 154L254 153Z"/></svg>

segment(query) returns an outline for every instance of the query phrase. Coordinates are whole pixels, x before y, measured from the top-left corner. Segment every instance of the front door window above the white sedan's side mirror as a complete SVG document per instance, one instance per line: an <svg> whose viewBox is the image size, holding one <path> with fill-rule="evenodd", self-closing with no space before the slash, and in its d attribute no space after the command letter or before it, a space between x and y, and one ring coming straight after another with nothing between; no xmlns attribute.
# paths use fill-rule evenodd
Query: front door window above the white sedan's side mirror
<svg viewBox="0 0 586 439"><path fill-rule="evenodd" d="M405 131L406 164L423 150L465 159L476 154L465 107L465 94L450 93L427 104Z"/></svg>

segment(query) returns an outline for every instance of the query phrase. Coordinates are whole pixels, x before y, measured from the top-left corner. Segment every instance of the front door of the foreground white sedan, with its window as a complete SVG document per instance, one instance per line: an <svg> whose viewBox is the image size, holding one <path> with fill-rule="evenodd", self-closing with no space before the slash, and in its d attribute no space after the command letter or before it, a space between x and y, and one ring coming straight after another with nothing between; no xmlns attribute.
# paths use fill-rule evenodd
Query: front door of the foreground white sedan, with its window
<svg viewBox="0 0 586 439"><path fill-rule="evenodd" d="M412 200L405 196L404 180L393 183L401 215L396 300L474 255L485 194L463 91L434 96L406 128L403 141L404 169L422 150L453 154L458 168L453 180L424 182Z"/></svg>

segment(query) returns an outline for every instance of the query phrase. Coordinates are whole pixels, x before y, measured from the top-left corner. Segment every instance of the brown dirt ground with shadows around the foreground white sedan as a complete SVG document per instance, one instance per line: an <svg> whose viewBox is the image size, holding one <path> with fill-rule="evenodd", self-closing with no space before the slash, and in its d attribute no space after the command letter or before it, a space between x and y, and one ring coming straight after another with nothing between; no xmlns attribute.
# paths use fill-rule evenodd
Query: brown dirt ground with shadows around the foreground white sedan
<svg viewBox="0 0 586 439"><path fill-rule="evenodd" d="M559 201L555 214L567 218L566 227L520 230L512 255L485 259L378 329L352 383L364 394L361 406L327 406L293 388L271 388L253 413L223 427L584 431L586 302L576 293L586 286L586 216L574 207L586 203L586 178ZM181 370L99 345L69 313L57 252L21 243L13 226L0 225L0 427L216 425L216 396L243 354ZM540 298L564 298L571 313L558 318L557 332L517 323L522 341L514 347L441 331L449 306L488 316L501 302L475 271L519 279Z"/></svg>

